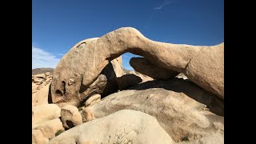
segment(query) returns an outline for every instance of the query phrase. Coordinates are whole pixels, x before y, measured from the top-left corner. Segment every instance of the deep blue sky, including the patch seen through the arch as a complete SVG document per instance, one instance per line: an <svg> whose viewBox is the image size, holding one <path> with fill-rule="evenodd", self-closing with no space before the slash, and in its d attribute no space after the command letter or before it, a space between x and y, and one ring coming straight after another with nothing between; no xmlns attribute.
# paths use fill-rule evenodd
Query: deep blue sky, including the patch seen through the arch
<svg viewBox="0 0 256 144"><path fill-rule="evenodd" d="M159 42L224 42L224 0L32 0L32 69L55 67L77 42L131 26ZM123 66L134 54L123 54Z"/></svg>

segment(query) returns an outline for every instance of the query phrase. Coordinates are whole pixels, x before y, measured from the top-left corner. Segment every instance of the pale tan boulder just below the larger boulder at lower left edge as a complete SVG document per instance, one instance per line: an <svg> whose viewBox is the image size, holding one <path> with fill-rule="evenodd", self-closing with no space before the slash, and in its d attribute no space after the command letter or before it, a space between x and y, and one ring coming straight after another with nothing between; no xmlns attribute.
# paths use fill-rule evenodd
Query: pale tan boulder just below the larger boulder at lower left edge
<svg viewBox="0 0 256 144"><path fill-rule="evenodd" d="M54 138L58 130L64 130L62 122L59 118L52 119L50 121L42 122L38 126L34 127L34 130L41 130L44 138Z"/></svg>

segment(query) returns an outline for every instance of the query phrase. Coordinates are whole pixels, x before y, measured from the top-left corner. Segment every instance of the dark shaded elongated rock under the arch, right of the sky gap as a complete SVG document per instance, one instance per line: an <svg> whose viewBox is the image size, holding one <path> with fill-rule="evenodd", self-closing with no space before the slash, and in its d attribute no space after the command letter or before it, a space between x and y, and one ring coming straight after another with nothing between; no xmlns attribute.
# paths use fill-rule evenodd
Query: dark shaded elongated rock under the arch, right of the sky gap
<svg viewBox="0 0 256 144"><path fill-rule="evenodd" d="M174 70L166 70L147 62L146 58L131 58L130 66L132 66L134 70L154 79L170 79L178 75L178 72Z"/></svg>

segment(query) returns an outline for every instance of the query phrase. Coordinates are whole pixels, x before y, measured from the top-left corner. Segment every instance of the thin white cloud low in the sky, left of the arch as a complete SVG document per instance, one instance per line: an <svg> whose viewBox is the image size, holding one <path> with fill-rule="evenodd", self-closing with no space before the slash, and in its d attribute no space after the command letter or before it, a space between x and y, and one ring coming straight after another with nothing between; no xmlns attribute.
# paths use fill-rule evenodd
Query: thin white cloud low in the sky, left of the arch
<svg viewBox="0 0 256 144"><path fill-rule="evenodd" d="M32 46L32 69L55 68L59 61L54 54Z"/></svg>

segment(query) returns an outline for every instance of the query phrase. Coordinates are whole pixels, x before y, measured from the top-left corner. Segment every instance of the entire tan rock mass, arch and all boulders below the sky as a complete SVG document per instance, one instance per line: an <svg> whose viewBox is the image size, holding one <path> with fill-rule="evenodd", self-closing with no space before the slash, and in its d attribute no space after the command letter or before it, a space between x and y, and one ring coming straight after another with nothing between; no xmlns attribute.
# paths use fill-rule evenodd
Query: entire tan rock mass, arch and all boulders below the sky
<svg viewBox="0 0 256 144"><path fill-rule="evenodd" d="M78 42L32 75L32 143L224 143L223 52L130 27Z"/></svg>

